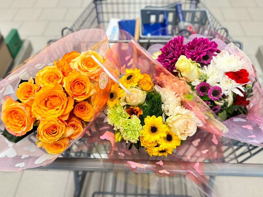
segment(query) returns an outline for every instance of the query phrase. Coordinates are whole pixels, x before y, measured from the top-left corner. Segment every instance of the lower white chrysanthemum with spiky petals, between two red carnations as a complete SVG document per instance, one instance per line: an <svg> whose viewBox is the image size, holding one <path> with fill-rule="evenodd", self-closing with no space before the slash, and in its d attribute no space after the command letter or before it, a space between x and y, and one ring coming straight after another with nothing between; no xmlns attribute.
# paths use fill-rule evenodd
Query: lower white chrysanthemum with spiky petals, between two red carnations
<svg viewBox="0 0 263 197"><path fill-rule="evenodd" d="M240 90L245 92L244 88L242 87L244 84L238 84L233 79L228 78L226 75L222 77L222 79L220 80L220 84L217 85L222 89L222 93L226 96L229 96L230 99L232 99L231 92L234 92L240 96L243 96Z"/></svg>

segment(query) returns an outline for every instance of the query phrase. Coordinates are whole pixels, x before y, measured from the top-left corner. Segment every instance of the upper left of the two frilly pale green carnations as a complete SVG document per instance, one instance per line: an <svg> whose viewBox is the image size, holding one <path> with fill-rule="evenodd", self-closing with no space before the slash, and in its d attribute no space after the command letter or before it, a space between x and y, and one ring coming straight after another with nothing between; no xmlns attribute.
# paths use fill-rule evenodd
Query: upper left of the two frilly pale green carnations
<svg viewBox="0 0 263 197"><path fill-rule="evenodd" d="M114 105L114 107L108 107L107 115L107 121L109 124L114 125L114 130L120 129L121 122L129 118L129 115L121 105Z"/></svg>

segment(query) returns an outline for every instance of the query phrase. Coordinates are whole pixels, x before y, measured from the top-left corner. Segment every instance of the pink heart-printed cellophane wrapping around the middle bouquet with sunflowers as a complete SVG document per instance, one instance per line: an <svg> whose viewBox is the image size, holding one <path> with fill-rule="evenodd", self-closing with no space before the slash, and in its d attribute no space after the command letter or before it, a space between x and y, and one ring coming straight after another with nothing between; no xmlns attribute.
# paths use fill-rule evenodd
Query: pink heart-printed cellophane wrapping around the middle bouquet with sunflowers
<svg viewBox="0 0 263 197"><path fill-rule="evenodd" d="M114 134L106 132L101 139L108 139L112 143L110 148L109 161L113 163L124 163L136 173L154 172L161 176L174 176L178 172L187 175L190 179L206 183L204 162L223 162L224 147L231 147L232 142L227 137L222 137L227 133L227 127L210 110L210 108L192 92L185 83L174 77L159 62L154 60L146 50L128 33L125 33L128 43L118 42L111 47L105 55L112 62L106 66L108 71L120 78L119 73L125 74L125 69L140 69L141 73L147 73L154 79L154 83L161 87L169 87L182 98L184 107L194 111L202 121L203 126L198 128L196 134L187 137L182 145L176 147L175 152L167 157L150 157L144 149L140 152L133 147L128 150L125 141L114 143ZM105 126L110 127L106 122ZM228 126L228 125L227 125ZM230 126L228 126L230 127ZM161 162L160 162L161 160ZM212 171L218 172L223 165L212 165ZM107 168L107 165L105 165ZM116 169L118 171L118 169Z"/></svg>

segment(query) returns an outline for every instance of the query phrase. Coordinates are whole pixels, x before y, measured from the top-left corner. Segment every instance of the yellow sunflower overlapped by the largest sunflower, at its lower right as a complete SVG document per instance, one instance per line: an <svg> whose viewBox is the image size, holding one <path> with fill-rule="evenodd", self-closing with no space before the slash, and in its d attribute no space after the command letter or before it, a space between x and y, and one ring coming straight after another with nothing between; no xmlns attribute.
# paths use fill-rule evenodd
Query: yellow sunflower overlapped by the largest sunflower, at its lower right
<svg viewBox="0 0 263 197"><path fill-rule="evenodd" d="M166 131L166 136L161 137L158 141L160 144L160 147L166 148L166 147L172 147L176 148L176 146L179 146L181 143L181 139L177 135L174 135L171 131Z"/></svg>

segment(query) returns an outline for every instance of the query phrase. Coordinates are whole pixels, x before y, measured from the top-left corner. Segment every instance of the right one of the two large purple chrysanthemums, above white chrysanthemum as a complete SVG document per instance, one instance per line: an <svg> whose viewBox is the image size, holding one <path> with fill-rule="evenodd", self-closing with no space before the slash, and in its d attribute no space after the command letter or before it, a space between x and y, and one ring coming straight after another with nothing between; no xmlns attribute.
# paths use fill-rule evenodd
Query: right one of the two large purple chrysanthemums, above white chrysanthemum
<svg viewBox="0 0 263 197"><path fill-rule="evenodd" d="M213 54L216 51L217 43L208 38L195 38L185 45L185 56L198 63L201 63L203 56L208 52Z"/></svg>

